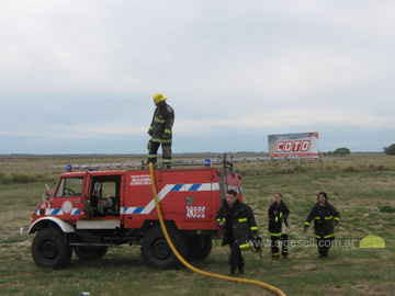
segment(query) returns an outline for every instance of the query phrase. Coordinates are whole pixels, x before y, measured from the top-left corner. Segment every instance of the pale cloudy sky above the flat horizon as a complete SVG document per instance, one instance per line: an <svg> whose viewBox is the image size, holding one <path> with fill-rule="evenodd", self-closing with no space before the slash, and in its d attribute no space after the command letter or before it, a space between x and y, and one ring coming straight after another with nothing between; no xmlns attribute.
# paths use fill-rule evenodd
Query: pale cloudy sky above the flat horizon
<svg viewBox="0 0 395 296"><path fill-rule="evenodd" d="M0 153L146 153L163 93L173 152L395 143L393 0L0 0Z"/></svg>

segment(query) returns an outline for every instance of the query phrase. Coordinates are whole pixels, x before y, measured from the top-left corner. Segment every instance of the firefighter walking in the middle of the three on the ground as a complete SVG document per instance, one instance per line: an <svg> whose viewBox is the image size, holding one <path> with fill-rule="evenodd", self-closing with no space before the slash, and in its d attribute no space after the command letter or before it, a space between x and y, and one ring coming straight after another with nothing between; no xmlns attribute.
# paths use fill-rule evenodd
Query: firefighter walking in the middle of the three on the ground
<svg viewBox="0 0 395 296"><path fill-rule="evenodd" d="M271 238L271 252L272 259L280 258L280 240L282 241L281 254L284 258L287 258L289 252L289 240L287 234L283 234L283 224L287 227L287 217L290 215L290 209L282 201L281 193L276 193L274 196L274 203L269 207L269 234Z"/></svg>

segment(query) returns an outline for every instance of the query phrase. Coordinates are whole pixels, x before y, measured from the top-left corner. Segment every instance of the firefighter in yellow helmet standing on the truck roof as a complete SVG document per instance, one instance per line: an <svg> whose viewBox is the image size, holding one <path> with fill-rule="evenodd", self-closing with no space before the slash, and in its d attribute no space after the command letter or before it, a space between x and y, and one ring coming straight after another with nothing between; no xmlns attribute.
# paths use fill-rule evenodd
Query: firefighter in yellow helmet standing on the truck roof
<svg viewBox="0 0 395 296"><path fill-rule="evenodd" d="M171 128L174 123L174 111L166 103L167 98L161 93L154 96L156 110L154 112L153 122L148 129L150 139L148 141L148 163L156 163L159 146L162 146L162 160L165 168L171 167Z"/></svg>

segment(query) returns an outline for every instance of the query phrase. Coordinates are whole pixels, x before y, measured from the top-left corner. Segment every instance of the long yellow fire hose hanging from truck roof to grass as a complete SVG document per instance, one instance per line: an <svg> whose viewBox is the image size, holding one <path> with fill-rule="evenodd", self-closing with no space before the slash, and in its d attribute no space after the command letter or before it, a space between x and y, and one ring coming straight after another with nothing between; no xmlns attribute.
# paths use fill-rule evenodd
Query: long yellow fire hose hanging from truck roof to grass
<svg viewBox="0 0 395 296"><path fill-rule="evenodd" d="M271 286L269 284L266 284L263 282L259 282L259 281L255 281L255 280L247 280L247 278L239 278L239 277L232 277L232 276L226 276L226 275L222 275L222 274L216 274L216 273L211 273L211 272L205 272L205 271L202 271L202 270L199 270L194 266L192 266L190 263L188 263L181 255L180 253L177 251L174 244L172 243L171 239L170 239L170 236L166 229L166 226L165 226L165 221L163 221L163 217L161 215L161 210L160 210L160 206L159 206L159 201L158 201L158 196L157 196L157 187L156 187L156 182L155 182L155 172L154 172L154 164L150 162L149 163L149 172L150 172L150 178L151 178L151 184L153 184L153 193L154 193L154 198L155 198L155 205L156 205L156 208L157 208L157 212L158 212L158 217L159 217L159 221L160 221L160 226L161 226L161 229L165 234L165 237L166 237L166 240L167 242L169 243L172 252L176 254L176 257L178 258L178 260L180 260L182 262L182 264L184 264L188 269L190 269L191 271L195 272L195 273L199 273L199 274L202 274L202 275L205 275L205 276L210 276L210 277L216 277L216 278L221 278L221 280L225 280L225 281L230 281L230 282L236 282L236 283L245 283L245 284L251 284L251 285L256 285L256 286L260 286L260 287L263 287L266 289L269 289L271 292L274 292L276 295L279 296L285 296L285 294L274 287L274 286Z"/></svg>

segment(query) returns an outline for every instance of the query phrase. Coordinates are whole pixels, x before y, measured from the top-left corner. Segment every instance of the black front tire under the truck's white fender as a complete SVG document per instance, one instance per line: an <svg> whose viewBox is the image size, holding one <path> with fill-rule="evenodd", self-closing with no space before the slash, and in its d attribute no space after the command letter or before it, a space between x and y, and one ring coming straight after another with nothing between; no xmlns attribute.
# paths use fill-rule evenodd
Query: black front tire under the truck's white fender
<svg viewBox="0 0 395 296"><path fill-rule="evenodd" d="M34 262L41 267L63 269L71 260L72 248L55 228L40 230L32 243Z"/></svg>

